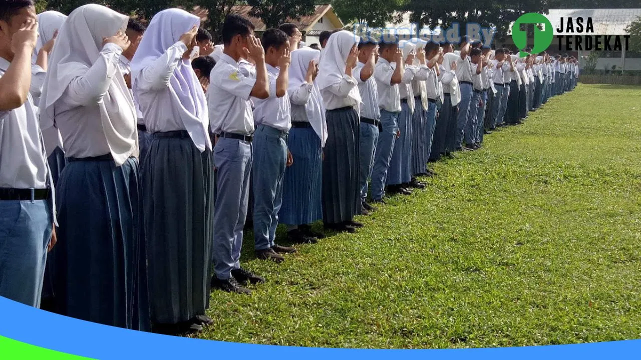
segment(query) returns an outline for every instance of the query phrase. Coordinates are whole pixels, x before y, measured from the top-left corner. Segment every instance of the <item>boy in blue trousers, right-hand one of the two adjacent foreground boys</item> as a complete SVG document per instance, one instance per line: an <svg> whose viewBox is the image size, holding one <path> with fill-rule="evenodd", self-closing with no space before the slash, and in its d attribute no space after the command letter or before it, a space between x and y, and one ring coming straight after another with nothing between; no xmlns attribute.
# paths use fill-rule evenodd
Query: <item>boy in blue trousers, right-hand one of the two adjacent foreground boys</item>
<svg viewBox="0 0 641 360"><path fill-rule="evenodd" d="M269 77L269 97L254 99L254 250L256 258L280 263L281 254L296 252L276 244L278 211L283 204L285 168L292 165L287 134L292 127L289 83L289 37L280 29L267 29L261 40Z"/></svg>

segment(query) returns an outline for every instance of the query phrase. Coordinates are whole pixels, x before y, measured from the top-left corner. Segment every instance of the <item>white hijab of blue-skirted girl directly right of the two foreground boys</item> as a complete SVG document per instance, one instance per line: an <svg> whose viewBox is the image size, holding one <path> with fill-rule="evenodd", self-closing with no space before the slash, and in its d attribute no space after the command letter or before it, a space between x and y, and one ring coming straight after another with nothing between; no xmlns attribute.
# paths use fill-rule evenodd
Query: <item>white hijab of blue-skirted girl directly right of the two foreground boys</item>
<svg viewBox="0 0 641 360"><path fill-rule="evenodd" d="M305 81L307 68L310 61L319 59L320 51L314 50L311 47L302 47L292 51L292 65L289 67L289 92L294 92ZM312 96L305 104L305 112L307 119L316 135L320 138L320 145L325 146L327 140L327 124L325 122L325 107L322 104L322 97L320 96L319 86L314 81L312 86Z"/></svg>

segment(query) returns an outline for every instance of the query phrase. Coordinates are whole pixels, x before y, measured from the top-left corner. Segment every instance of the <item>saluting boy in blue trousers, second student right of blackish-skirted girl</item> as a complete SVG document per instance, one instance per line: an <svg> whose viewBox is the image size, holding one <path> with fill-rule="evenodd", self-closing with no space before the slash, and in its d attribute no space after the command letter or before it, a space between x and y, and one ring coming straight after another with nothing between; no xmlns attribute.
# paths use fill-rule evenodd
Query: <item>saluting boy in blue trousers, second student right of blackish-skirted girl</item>
<svg viewBox="0 0 641 360"><path fill-rule="evenodd" d="M398 47L397 39L393 42L381 42L379 56L374 65L374 80L378 95L378 108L381 114L382 131L378 134L374 165L372 166L372 202L384 202L385 182L394 151L394 144L399 135L397 119L401 113L401 95L399 84L405 74L403 52Z"/></svg>

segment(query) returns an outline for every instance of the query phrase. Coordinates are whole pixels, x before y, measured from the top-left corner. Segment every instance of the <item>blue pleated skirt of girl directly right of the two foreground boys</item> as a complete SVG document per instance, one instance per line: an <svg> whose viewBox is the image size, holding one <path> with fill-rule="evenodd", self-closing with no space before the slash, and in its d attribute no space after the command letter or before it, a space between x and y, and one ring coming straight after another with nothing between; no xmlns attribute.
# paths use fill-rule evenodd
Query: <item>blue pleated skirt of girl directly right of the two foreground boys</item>
<svg viewBox="0 0 641 360"><path fill-rule="evenodd" d="M287 148L294 163L285 169L279 222L287 225L312 224L322 219L320 138L312 127L292 127Z"/></svg>

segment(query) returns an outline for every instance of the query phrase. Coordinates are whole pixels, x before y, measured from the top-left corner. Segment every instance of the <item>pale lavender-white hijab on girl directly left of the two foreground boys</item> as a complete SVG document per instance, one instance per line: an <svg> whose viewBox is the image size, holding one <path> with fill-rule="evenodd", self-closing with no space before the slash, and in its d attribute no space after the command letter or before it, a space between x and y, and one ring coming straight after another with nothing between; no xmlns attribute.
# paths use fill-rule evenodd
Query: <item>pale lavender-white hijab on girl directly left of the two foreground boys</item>
<svg viewBox="0 0 641 360"><path fill-rule="evenodd" d="M163 56L169 47L178 42L181 35L194 26L200 26L200 18L185 10L167 9L154 15L131 60L131 88L133 88L133 97L136 102L138 102L136 85L140 71ZM190 61L178 62L169 82L169 91L172 95L172 105L180 112L183 125L194 145L201 152L212 149L212 142L208 135L207 100Z"/></svg>

